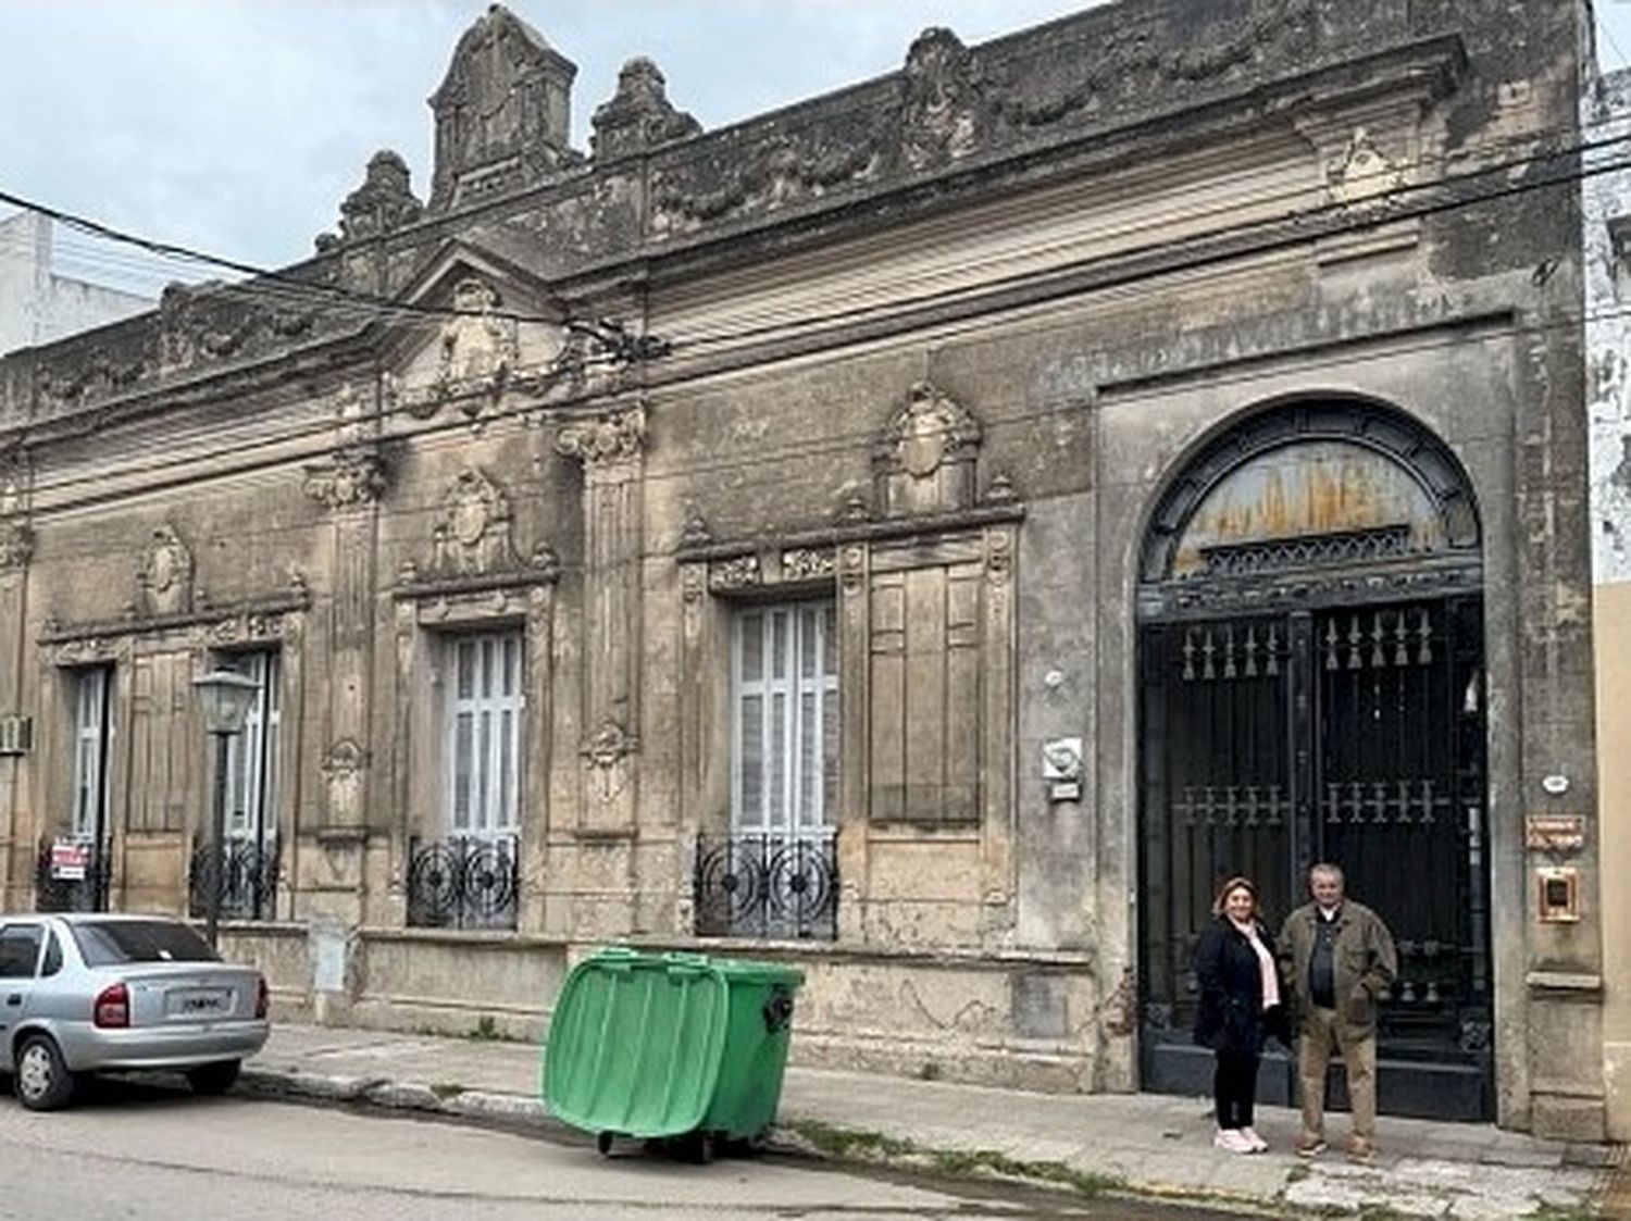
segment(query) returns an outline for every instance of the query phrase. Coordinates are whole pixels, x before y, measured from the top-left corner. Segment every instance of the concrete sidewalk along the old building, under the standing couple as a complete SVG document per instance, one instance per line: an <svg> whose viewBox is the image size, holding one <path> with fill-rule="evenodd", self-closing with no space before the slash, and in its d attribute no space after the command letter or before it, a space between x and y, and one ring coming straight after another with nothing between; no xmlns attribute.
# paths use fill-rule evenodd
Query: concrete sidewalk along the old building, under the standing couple
<svg viewBox="0 0 1631 1221"><path fill-rule="evenodd" d="M475 1038L276 1025L241 1089L566 1131L540 1104L538 1048ZM951 1172L1019 1174L1078 1190L1125 1190L1287 1216L1611 1216L1624 1170L1487 1125L1383 1118L1380 1153L1350 1166L1290 1149L1297 1117L1259 1109L1267 1154L1212 1148L1205 1099L1052 1095L789 1068L773 1143L825 1156ZM1344 1115L1333 1117L1341 1136ZM1336 1144L1336 1141L1334 1141ZM1618 1151L1616 1151L1618 1153ZM592 1156L592 1154L590 1154ZM1613 1190L1610 1190L1613 1187ZM1608 1211L1613 1210L1613 1211Z"/></svg>

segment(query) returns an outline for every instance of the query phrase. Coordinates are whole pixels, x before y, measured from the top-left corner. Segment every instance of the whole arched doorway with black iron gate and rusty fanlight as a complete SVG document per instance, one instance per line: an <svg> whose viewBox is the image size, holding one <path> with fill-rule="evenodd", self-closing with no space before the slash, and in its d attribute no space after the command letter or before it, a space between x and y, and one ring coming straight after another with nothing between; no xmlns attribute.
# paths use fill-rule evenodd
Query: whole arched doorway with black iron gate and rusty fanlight
<svg viewBox="0 0 1631 1221"><path fill-rule="evenodd" d="M1217 882L1254 877L1277 921L1331 859L1399 946L1381 1109L1491 1117L1483 564L1460 463L1373 403L1261 411L1166 489L1140 564L1145 1089L1209 1087L1189 959ZM1292 1076L1271 1060L1264 1100Z"/></svg>

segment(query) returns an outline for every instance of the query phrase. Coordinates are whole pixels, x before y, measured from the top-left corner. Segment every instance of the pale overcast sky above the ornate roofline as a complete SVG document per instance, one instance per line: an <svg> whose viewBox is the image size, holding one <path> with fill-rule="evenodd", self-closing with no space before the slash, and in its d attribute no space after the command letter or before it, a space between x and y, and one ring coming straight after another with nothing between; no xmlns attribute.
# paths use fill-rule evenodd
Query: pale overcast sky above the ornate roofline
<svg viewBox="0 0 1631 1221"><path fill-rule="evenodd" d="M1367 0L1352 0L1365 3ZM1533 0L1553 3L1561 0ZM512 0L577 64L574 145L618 67L651 55L705 127L892 72L1085 0ZM256 266L333 228L377 148L427 194L426 98L484 0L0 0L0 191ZM1631 0L1598 0L1605 65ZM0 215L7 209L0 205ZM59 238L59 271L153 292L175 266ZM132 279L134 277L134 279Z"/></svg>

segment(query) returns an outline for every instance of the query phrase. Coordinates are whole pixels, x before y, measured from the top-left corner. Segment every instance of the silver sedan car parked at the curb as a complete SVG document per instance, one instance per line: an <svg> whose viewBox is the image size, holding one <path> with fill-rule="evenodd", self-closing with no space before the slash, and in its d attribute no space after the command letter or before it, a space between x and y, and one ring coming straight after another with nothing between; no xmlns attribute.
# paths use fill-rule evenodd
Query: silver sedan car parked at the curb
<svg viewBox="0 0 1631 1221"><path fill-rule="evenodd" d="M0 1073L31 1110L80 1076L171 1069L201 1094L266 1043L266 980L166 916L0 916Z"/></svg>

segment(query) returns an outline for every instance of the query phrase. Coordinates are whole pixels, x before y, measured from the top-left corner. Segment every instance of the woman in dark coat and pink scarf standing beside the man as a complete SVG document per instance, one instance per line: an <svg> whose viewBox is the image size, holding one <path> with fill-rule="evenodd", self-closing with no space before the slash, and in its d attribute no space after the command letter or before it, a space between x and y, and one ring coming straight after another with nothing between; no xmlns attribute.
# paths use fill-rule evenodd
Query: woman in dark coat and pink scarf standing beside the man
<svg viewBox="0 0 1631 1221"><path fill-rule="evenodd" d="M1251 1126L1258 1065L1262 1040L1274 1034L1284 1042L1287 1029L1274 942L1259 919L1258 887L1244 877L1218 888L1212 915L1196 946L1196 1042L1217 1053L1218 1131L1212 1143L1230 1153L1262 1153L1269 1144Z"/></svg>

